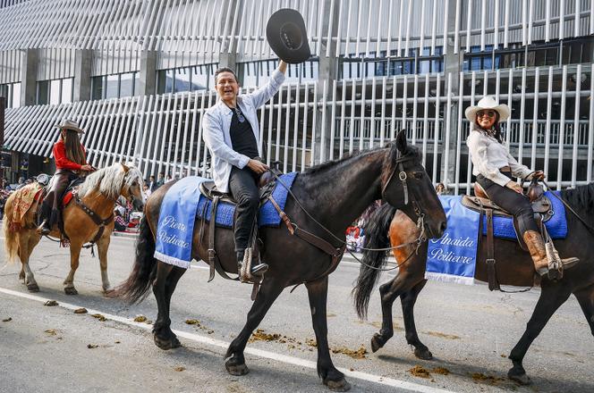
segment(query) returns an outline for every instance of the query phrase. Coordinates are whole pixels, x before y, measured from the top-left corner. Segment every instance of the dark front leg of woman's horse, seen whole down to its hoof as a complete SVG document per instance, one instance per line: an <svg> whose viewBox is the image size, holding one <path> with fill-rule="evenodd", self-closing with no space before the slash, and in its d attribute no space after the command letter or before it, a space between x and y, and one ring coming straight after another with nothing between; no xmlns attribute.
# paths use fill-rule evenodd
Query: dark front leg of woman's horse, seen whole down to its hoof
<svg viewBox="0 0 594 393"><path fill-rule="evenodd" d="M526 375L526 371L522 366L524 355L526 355L532 341L539 337L540 331L545 327L551 316L555 314L557 308L563 305L571 295L570 288L564 287L561 283L543 284L545 285L543 285L540 292L539 302L534 308L530 321L526 325L522 339L513 347L509 355L509 358L513 362L513 367L507 372L507 376L522 385L530 384L530 377Z"/></svg>

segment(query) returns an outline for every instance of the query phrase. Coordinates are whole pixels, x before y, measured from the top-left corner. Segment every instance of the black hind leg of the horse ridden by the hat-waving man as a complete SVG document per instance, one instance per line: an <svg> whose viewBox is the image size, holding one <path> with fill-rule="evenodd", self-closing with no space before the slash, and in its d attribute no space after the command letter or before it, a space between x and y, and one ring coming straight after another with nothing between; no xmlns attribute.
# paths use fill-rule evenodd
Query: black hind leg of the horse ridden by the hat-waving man
<svg viewBox="0 0 594 393"><path fill-rule="evenodd" d="M157 278L153 281L153 293L157 299L157 321L153 325L153 336L155 344L161 349L171 349L173 347L173 340L171 338L171 330L169 325L169 304L166 297L166 283L169 273L174 266L171 264L158 261L157 263Z"/></svg>

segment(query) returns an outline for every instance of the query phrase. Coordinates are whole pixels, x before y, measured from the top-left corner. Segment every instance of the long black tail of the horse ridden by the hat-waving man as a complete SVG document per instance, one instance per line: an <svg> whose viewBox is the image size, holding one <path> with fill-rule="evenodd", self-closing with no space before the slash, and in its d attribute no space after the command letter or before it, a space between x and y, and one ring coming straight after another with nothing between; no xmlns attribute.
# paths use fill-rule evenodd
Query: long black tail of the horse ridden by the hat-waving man
<svg viewBox="0 0 594 393"><path fill-rule="evenodd" d="M140 236L136 241L136 260L130 277L123 281L110 297L123 297L130 303L140 303L148 296L148 289L157 276L157 259L155 256L155 238L150 230L145 215L140 221Z"/></svg>

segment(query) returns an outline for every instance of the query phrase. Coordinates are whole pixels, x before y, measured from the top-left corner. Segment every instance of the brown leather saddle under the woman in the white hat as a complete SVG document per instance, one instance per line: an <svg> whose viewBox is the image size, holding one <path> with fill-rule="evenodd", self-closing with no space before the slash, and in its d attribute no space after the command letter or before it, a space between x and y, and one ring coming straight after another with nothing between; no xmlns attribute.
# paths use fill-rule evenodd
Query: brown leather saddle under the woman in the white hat
<svg viewBox="0 0 594 393"><path fill-rule="evenodd" d="M485 190L480 187L478 182L474 183L474 194L476 197L463 196L462 205L472 211L480 214L479 218L479 239L482 239L483 233L483 216L487 217L487 272L488 272L488 288L489 290L501 290L499 281L496 276L496 261L495 261L495 249L494 249L494 230L493 230L493 216L510 217L513 218L513 228L516 233L516 238L520 247L524 251L528 251L528 247L524 242L522 236L519 235L520 230L518 223L511 213L505 211L504 208L496 205L493 201L488 198ZM534 212L534 219L537 222L540 232L543 238L547 238L545 222L555 214L553 211L553 205L548 197L544 195L544 188L539 184L539 180L533 179L530 182L527 196L530 198L532 205L532 211Z"/></svg>

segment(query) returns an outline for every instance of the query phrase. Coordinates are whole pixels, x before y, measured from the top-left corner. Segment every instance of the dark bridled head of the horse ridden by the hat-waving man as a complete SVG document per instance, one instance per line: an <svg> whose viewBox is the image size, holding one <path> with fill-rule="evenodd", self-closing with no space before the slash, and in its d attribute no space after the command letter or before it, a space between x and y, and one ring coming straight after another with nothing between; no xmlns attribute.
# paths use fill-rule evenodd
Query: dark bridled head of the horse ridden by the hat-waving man
<svg viewBox="0 0 594 393"><path fill-rule="evenodd" d="M419 150L406 143L402 130L390 146L382 174L382 197L413 222L422 222L431 238L446 230L446 213L421 163Z"/></svg>

